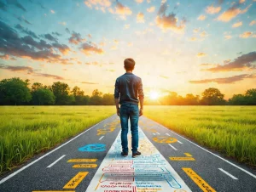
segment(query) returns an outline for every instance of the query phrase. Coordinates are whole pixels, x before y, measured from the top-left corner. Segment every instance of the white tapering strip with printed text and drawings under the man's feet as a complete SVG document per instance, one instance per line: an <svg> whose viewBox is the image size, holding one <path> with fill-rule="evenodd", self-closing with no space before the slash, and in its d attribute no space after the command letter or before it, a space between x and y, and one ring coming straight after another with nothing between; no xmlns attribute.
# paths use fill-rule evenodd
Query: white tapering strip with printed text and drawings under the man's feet
<svg viewBox="0 0 256 192"><path fill-rule="evenodd" d="M119 132L91 179L87 192L92 190L98 192L143 192L149 190L155 192L191 192L187 184L183 182L183 179L179 177L143 131L138 127L140 149L143 153L137 158L132 158L131 155L126 157L120 155L121 138ZM129 132L128 138L128 143L131 143L131 132Z"/></svg>

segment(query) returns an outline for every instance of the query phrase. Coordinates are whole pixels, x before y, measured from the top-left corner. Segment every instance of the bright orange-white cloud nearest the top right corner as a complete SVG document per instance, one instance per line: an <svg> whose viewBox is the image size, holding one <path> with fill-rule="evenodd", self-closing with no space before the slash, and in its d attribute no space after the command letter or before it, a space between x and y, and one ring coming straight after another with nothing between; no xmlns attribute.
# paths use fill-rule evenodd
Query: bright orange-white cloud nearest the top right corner
<svg viewBox="0 0 256 192"><path fill-rule="evenodd" d="M252 5L247 6L247 8L244 8L241 10L241 8L236 8L236 6L232 6L228 10L224 11L223 14L220 14L216 20L220 20L223 22L228 22L235 18L238 14L245 14L247 10L251 7Z"/></svg>

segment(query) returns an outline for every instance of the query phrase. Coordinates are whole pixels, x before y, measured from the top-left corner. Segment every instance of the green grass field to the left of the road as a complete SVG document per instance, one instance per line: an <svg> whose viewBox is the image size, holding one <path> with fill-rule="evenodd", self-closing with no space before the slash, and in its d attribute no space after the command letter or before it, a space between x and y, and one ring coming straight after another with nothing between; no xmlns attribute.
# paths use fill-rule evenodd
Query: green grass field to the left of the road
<svg viewBox="0 0 256 192"><path fill-rule="evenodd" d="M1 106L0 174L114 113L113 106Z"/></svg>

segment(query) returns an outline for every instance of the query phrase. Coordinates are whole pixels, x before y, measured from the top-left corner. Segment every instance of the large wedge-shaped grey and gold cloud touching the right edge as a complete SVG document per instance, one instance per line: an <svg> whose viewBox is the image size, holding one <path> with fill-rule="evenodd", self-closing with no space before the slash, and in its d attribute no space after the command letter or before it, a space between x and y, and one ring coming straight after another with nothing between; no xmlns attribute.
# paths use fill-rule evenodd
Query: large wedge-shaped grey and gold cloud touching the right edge
<svg viewBox="0 0 256 192"><path fill-rule="evenodd" d="M244 70L254 70L256 65L253 62L256 61L256 52L251 52L248 54L243 54L234 61L226 62L224 65L217 65L210 69L202 71L212 71L212 72L224 72L224 71L244 71Z"/></svg>

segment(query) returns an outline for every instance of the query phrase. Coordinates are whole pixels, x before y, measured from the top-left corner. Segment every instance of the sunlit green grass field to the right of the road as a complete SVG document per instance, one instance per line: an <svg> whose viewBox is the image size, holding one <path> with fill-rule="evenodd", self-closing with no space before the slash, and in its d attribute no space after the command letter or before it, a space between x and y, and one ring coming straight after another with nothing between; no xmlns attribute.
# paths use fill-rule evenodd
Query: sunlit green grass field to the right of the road
<svg viewBox="0 0 256 192"><path fill-rule="evenodd" d="M255 106L145 106L144 115L218 150L256 166Z"/></svg>

